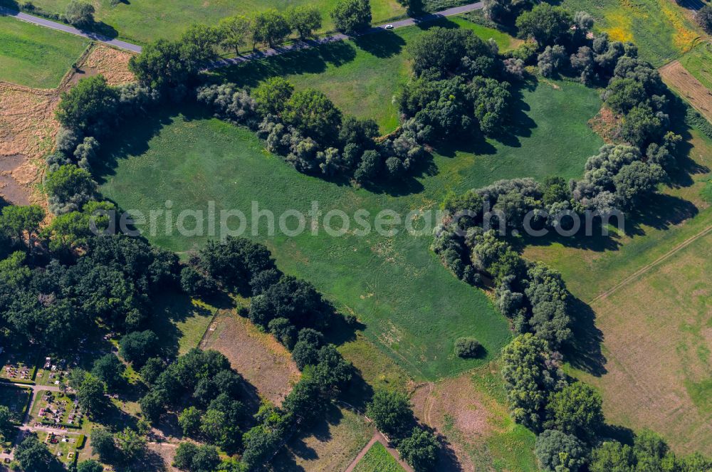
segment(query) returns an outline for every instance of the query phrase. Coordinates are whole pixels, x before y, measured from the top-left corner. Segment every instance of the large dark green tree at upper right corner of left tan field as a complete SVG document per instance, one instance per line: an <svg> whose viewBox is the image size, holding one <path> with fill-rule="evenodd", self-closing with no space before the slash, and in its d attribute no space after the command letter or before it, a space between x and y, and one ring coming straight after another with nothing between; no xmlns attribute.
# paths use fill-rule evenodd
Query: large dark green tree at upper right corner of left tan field
<svg viewBox="0 0 712 472"><path fill-rule="evenodd" d="M115 117L118 93L103 75L80 80L61 95L57 120L69 130L100 135Z"/></svg>

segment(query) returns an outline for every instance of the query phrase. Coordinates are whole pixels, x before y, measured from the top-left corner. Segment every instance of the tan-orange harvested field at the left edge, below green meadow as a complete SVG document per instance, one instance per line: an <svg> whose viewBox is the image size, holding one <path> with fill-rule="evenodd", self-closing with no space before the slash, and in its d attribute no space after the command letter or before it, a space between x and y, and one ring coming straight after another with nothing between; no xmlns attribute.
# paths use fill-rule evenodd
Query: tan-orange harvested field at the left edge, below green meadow
<svg viewBox="0 0 712 472"><path fill-rule="evenodd" d="M0 102L0 195L15 204L38 203L41 157L59 128L58 94L0 82Z"/></svg>

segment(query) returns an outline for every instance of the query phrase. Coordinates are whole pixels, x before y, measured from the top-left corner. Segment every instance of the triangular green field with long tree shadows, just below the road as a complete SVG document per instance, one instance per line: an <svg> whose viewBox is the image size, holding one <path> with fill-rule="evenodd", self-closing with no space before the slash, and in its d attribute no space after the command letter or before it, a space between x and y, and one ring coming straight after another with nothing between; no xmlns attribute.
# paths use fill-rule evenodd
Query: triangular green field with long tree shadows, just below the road
<svg viewBox="0 0 712 472"><path fill-rule="evenodd" d="M517 43L506 33L459 17L429 26L471 29L483 39L493 38L501 51ZM405 47L423 31L417 26L399 28L352 41L251 61L216 70L215 74L220 79L248 87L255 87L262 80L276 75L286 77L297 89L311 87L322 90L344 112L372 118L383 132L389 132L398 125L397 105L392 98L411 74Z"/></svg>

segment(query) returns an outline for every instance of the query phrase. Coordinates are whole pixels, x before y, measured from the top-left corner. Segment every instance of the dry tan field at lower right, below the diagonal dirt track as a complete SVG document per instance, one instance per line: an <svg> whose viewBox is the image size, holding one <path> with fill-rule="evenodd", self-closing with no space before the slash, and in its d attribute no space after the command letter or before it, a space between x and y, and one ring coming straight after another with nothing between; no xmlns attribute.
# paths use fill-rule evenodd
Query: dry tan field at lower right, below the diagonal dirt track
<svg viewBox="0 0 712 472"><path fill-rule="evenodd" d="M650 428L675 451L712 453L712 233L592 303L609 421Z"/></svg>

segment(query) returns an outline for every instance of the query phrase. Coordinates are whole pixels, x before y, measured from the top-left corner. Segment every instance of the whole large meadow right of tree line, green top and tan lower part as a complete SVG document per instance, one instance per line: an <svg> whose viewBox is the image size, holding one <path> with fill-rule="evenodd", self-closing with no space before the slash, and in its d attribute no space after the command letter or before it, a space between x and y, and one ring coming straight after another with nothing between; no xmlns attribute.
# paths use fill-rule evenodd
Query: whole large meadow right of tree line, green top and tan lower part
<svg viewBox="0 0 712 472"><path fill-rule="evenodd" d="M560 270L591 306L599 365L575 357L580 369L571 372L600 387L607 421L649 427L677 451L709 454L712 208L704 192L712 141L693 131L689 145L689 179L650 201L627 233L587 247L530 246L525 256Z"/></svg>

